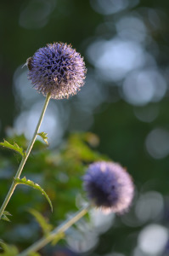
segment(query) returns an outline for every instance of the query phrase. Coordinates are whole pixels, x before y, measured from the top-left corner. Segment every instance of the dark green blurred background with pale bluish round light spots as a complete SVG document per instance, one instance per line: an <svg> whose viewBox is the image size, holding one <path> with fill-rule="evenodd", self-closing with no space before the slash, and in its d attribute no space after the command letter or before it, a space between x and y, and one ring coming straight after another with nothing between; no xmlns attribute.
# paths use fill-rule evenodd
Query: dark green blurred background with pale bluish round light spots
<svg viewBox="0 0 169 256"><path fill-rule="evenodd" d="M87 255L167 255L168 17L167 0L0 3L1 140L22 133L29 139L42 108L44 97L31 88L26 67L21 68L26 59L45 44L66 42L84 56L87 79L77 96L50 102L42 128L50 148L62 147L71 132L91 131L99 137L96 150L126 166L133 177L131 211L116 217ZM8 154L17 166L20 160L14 154L2 153ZM20 238L4 237L20 244ZM75 251L87 252L87 246Z"/></svg>

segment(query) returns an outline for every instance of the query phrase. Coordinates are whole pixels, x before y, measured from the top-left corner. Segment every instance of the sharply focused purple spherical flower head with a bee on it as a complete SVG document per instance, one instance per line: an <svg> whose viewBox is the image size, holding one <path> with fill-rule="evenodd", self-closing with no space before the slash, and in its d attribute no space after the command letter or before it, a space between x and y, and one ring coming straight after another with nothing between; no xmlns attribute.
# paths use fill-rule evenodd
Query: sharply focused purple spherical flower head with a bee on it
<svg viewBox="0 0 169 256"><path fill-rule="evenodd" d="M70 44L47 44L26 61L28 79L38 92L54 99L75 95L84 84L86 67L83 58Z"/></svg>

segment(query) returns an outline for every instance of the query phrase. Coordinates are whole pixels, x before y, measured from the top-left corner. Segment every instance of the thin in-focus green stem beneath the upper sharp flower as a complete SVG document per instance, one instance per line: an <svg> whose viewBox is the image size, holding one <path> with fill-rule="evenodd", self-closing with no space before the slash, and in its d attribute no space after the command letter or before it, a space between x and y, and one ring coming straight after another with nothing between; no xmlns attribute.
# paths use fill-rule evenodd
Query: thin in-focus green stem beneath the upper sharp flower
<svg viewBox="0 0 169 256"><path fill-rule="evenodd" d="M44 113L45 113L45 111L46 111L46 109L47 109L49 100L50 100L50 93L48 93L48 95L47 95L47 97L46 97L44 106L43 106L43 108L42 108L41 116L40 116L39 121L38 121L38 123L37 123L36 130L35 130L35 132L34 132L34 134L33 134L33 137L32 137L32 139L31 139L31 142L29 143L29 146L28 146L28 148L27 148L27 150L26 150L26 152L25 152L25 155L22 157L22 160L21 160L21 162L20 162L20 166L19 166L18 171L16 172L16 175L15 175L14 178L20 178L20 174L21 174L21 172L22 172L22 170L23 170L23 168L24 168L24 166L25 166L25 162L26 162L26 160L27 160L29 154L31 153L31 148L33 147L33 144L34 144L35 141L36 141L37 133L38 133L39 128L40 128L40 126L41 126L41 124L42 124L42 119L43 119ZM3 205L2 205L2 207L1 207L1 209L0 209L0 218L2 217L3 211L5 210L5 208L6 208L7 205L8 205L8 201L10 200L11 196L12 196L13 193L14 193L14 189L15 189L16 185L17 185L17 183L16 183L15 181L13 181L13 183L12 183L10 189L8 190L8 195L6 196L5 200L3 201Z"/></svg>

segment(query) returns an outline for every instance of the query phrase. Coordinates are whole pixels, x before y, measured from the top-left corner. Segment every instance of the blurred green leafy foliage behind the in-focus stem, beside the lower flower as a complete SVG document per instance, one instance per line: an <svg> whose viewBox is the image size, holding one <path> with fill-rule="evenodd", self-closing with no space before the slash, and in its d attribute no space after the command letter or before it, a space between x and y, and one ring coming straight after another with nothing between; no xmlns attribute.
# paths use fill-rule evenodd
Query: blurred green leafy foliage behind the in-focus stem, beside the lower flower
<svg viewBox="0 0 169 256"><path fill-rule="evenodd" d="M23 148L27 144L23 135L14 136L13 138L8 137L7 140L14 141ZM8 203L8 211L13 215L10 216L12 224L3 222L3 220L1 222L0 232L3 234L1 238L4 241L8 237L9 243L25 247L40 236L41 232L29 212L37 218L42 230L47 232L47 230L51 230L52 225L56 226L61 220L64 220L67 213L78 209L76 197L84 194L82 192L82 175L87 165L95 160L108 159L93 148L98 143L99 138L91 132L72 134L65 140L61 148L55 150L49 150L46 144L40 141L35 143L22 175L26 176L27 179L30 178L35 183L39 183L46 190L54 206L54 212L50 211L48 202L44 200L41 193L20 184ZM6 148L2 149L2 152L3 155L0 160L1 180L3 182L1 201L7 194L8 185L12 182L14 172L19 164L18 156L13 152L8 152ZM85 198L85 195L83 196ZM48 227L36 209L50 220ZM26 232L30 232L29 237L22 236L21 238L20 235L18 236L17 225L23 231L26 226ZM34 228L32 228L33 226Z"/></svg>

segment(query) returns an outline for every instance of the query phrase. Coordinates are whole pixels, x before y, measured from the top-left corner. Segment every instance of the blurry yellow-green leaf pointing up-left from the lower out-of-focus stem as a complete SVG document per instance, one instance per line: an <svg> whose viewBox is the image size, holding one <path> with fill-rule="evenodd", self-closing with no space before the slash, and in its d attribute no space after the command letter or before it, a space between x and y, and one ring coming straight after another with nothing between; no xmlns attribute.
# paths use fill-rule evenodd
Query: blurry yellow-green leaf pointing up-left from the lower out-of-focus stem
<svg viewBox="0 0 169 256"><path fill-rule="evenodd" d="M42 216L40 212L37 212L35 209L30 209L29 212L37 219L38 224L40 224L44 235L48 235L48 233L53 229L51 224L48 224L47 220Z"/></svg>

